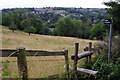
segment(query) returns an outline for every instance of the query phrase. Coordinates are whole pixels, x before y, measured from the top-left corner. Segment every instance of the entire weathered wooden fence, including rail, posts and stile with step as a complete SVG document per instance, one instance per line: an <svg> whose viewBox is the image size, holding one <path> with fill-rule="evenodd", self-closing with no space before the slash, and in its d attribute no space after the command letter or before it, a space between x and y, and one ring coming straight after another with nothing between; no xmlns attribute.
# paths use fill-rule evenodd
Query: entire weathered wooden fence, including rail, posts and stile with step
<svg viewBox="0 0 120 80"><path fill-rule="evenodd" d="M51 52L51 51L40 51L40 50L25 50L24 47L18 47L17 50L1 49L2 53L0 53L0 55L2 56L0 57L17 57L18 71L19 71L19 74L22 73L22 75L20 76L22 76L23 80L28 79L26 56L65 56L65 69L68 73L67 74L68 78L69 78L69 69L73 69L75 71L76 76L77 76L77 71L81 71L86 74L95 76L98 73L98 71L93 71L93 70L77 67L78 60L82 58L86 58L87 62L91 64L91 56L94 50L92 48L92 43L89 42L89 47L86 47L84 49L85 52L83 53L78 54L78 48L79 48L79 43L75 43L75 53L74 55L71 56L71 60L74 60L73 67L69 66L68 50Z"/></svg>

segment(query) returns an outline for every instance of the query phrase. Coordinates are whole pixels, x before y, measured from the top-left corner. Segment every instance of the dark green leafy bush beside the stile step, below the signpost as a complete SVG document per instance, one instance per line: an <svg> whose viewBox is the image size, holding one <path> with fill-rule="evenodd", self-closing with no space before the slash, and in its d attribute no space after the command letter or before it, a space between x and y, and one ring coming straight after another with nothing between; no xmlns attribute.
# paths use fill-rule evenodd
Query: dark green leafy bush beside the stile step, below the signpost
<svg viewBox="0 0 120 80"><path fill-rule="evenodd" d="M94 70L98 71L96 75L97 80L119 80L120 78L120 58L117 58L116 63L111 60L108 65L107 60L104 60L105 55L101 54L95 65L92 66Z"/></svg>

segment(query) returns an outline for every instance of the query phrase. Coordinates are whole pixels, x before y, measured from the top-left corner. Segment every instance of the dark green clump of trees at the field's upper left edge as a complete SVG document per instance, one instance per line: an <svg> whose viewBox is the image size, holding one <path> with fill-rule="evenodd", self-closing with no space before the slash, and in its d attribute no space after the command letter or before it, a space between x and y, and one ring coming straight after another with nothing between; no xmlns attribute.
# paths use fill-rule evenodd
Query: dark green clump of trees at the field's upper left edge
<svg viewBox="0 0 120 80"><path fill-rule="evenodd" d="M29 13L27 9L16 9L15 11L2 13L2 25L7 26L13 31L22 30L29 34L47 34L47 28L42 19Z"/></svg>

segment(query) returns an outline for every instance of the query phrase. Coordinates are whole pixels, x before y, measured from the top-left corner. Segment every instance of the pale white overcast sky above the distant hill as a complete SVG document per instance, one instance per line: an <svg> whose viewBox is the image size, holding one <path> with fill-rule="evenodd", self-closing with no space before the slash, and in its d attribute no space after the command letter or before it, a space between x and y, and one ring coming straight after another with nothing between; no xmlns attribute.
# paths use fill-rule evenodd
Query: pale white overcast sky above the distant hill
<svg viewBox="0 0 120 80"><path fill-rule="evenodd" d="M0 9L24 7L83 7L105 8L110 0L0 0Z"/></svg>

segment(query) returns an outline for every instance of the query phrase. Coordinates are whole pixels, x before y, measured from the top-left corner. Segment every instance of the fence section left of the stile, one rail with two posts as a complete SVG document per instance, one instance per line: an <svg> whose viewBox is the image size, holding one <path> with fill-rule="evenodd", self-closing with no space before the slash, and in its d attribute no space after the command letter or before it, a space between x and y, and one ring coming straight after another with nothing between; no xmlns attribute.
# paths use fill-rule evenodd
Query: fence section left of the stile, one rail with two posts
<svg viewBox="0 0 120 80"><path fill-rule="evenodd" d="M69 71L68 50L64 51L40 51L25 50L24 47L18 47L17 50L1 49L0 57L17 57L19 76L22 80L28 80L28 70L26 56L65 56L66 71ZM22 74L22 75L21 75Z"/></svg>

